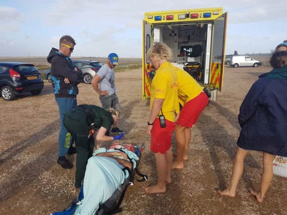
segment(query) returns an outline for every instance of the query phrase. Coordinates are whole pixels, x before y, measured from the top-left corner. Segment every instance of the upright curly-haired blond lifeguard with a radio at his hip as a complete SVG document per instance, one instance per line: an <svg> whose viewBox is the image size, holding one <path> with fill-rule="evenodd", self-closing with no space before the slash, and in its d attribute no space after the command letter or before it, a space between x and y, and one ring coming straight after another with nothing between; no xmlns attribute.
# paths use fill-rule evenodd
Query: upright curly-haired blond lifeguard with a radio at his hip
<svg viewBox="0 0 287 215"><path fill-rule="evenodd" d="M176 127L176 113L179 112L177 73L169 62L172 54L166 44L155 43L147 55L156 69L151 84L151 113L147 122L147 133L151 135L150 150L155 155L157 183L146 187L145 191L164 193L165 183L171 183L173 153L170 143Z"/></svg>

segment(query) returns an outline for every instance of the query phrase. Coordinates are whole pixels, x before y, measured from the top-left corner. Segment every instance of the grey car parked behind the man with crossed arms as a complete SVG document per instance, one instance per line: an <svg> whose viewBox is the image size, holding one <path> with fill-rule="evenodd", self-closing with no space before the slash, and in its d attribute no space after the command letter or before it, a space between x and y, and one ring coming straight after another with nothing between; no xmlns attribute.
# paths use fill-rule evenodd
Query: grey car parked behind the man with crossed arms
<svg viewBox="0 0 287 215"><path fill-rule="evenodd" d="M75 66L83 71L83 82L86 84L91 84L92 78L96 75L97 71L100 69L102 64L98 61L93 60L72 60ZM47 69L44 71L45 79L52 83L51 71Z"/></svg>

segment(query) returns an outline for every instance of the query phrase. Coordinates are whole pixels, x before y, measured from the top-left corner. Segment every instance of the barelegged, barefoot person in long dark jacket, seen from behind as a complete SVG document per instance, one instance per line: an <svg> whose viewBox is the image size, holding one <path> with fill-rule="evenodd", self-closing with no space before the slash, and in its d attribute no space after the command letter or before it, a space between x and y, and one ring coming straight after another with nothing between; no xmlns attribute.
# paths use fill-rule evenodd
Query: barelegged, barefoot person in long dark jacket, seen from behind
<svg viewBox="0 0 287 215"><path fill-rule="evenodd" d="M240 107L241 126L230 185L221 195L235 197L250 150L263 154L263 173L259 191L250 190L262 202L273 178L274 155L287 157L287 51L273 53L273 69L259 76Z"/></svg>

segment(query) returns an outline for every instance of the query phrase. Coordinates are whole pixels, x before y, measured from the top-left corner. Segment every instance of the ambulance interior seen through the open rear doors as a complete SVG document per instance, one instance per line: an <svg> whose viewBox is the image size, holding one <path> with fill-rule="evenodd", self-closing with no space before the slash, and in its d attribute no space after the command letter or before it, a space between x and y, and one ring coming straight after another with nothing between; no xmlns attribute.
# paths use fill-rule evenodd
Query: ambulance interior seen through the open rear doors
<svg viewBox="0 0 287 215"><path fill-rule="evenodd" d="M186 70L203 83L207 24L170 24L153 26L153 42L163 42L173 50L171 63Z"/></svg>

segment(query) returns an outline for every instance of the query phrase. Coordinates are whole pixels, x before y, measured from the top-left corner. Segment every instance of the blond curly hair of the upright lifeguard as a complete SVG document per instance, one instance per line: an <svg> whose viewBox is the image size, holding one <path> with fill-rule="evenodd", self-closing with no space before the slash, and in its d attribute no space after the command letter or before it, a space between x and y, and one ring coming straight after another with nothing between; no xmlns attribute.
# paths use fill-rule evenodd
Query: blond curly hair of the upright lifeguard
<svg viewBox="0 0 287 215"><path fill-rule="evenodd" d="M173 53L166 44L162 42L155 42L153 46L148 49L147 57L148 59L153 57L155 60L166 59L169 61L171 58L173 58Z"/></svg>

